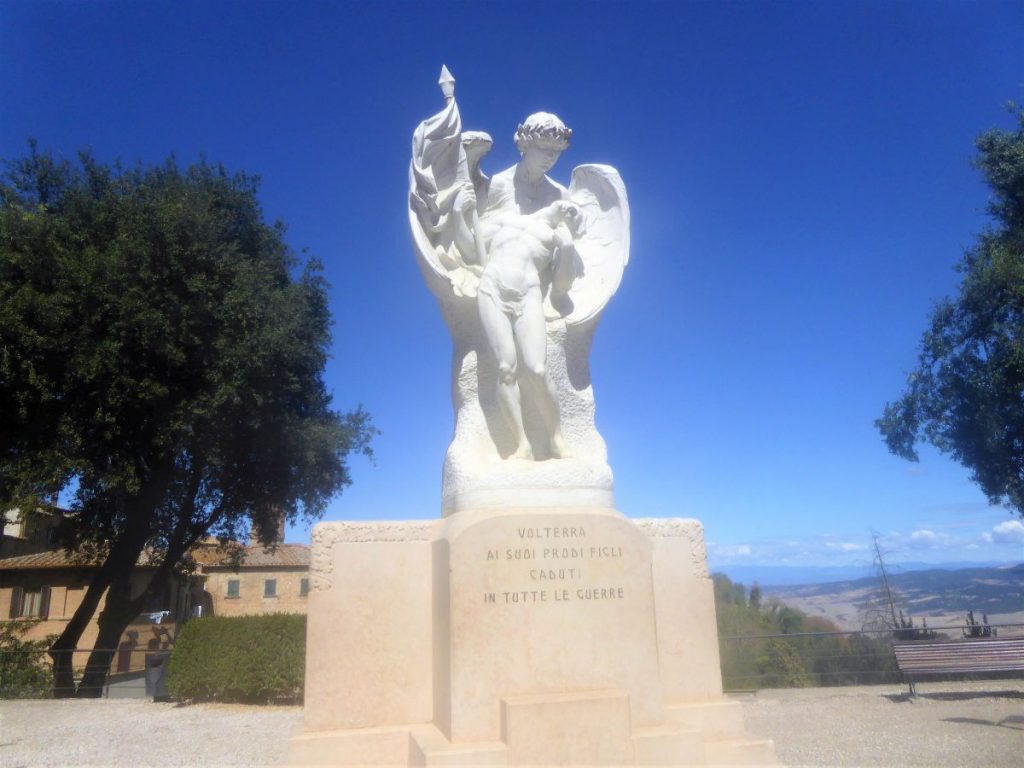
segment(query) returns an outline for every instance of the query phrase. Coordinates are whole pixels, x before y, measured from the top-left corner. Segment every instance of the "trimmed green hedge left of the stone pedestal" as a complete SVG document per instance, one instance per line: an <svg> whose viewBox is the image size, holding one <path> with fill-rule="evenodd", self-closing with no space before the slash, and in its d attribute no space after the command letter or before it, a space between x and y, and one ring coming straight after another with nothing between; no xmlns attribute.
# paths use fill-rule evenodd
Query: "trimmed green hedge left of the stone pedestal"
<svg viewBox="0 0 1024 768"><path fill-rule="evenodd" d="M174 644L167 688L196 701L301 701L305 664L304 615L194 618Z"/></svg>

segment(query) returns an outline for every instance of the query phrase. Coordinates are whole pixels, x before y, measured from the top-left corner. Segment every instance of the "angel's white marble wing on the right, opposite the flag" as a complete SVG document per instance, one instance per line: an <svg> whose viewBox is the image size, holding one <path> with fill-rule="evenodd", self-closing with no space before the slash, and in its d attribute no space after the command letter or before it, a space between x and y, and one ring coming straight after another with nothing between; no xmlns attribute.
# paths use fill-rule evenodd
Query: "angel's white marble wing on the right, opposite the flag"
<svg viewBox="0 0 1024 768"><path fill-rule="evenodd" d="M618 171L607 165L573 169L568 198L580 208L585 225L574 243L583 274L569 290L572 311L565 317L574 325L597 316L618 290L630 260L630 204Z"/></svg>

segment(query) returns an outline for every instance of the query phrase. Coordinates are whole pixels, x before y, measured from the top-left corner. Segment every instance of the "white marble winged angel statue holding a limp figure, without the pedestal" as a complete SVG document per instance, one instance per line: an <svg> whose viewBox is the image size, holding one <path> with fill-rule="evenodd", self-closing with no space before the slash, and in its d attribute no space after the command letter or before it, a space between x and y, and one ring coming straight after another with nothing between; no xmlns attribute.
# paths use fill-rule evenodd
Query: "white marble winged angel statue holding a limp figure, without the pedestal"
<svg viewBox="0 0 1024 768"><path fill-rule="evenodd" d="M446 68L439 84L445 106L413 137L409 214L455 342L445 511L511 492L610 506L588 354L629 259L626 187L605 165L578 166L568 188L550 179L572 131L543 112L516 129L521 160L486 176L490 137L463 131Z"/></svg>

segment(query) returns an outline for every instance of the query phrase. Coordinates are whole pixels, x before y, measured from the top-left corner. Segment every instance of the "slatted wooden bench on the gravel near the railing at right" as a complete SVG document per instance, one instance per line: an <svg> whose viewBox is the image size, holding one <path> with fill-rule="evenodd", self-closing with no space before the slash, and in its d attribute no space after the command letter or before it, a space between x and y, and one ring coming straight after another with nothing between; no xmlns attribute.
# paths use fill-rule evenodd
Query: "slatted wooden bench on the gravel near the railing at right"
<svg viewBox="0 0 1024 768"><path fill-rule="evenodd" d="M1024 637L895 643L893 648L911 696L916 695L913 684L921 677L1024 672Z"/></svg>

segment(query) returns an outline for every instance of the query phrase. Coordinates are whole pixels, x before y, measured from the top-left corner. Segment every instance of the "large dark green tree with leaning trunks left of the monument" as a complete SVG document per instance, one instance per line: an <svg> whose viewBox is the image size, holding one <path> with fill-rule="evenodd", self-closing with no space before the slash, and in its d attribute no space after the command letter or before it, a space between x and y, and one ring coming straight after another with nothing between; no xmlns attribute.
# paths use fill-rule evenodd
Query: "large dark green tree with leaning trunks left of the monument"
<svg viewBox="0 0 1024 768"><path fill-rule="evenodd" d="M359 409L331 408L326 285L257 180L204 163L123 169L35 145L0 180L0 500L73 493L63 545L99 563L50 649L54 691L106 593L78 695L202 537L264 542L322 516L369 454ZM132 594L146 557L158 567Z"/></svg>

